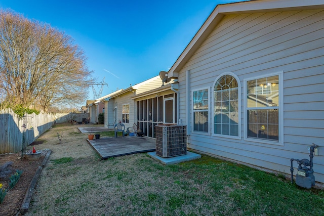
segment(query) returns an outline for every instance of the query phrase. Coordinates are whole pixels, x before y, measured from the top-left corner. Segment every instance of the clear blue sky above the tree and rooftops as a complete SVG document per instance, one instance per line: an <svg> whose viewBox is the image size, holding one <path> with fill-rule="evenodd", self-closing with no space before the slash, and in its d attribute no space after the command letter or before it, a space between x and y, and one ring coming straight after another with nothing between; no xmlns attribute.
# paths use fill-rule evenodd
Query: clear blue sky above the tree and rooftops
<svg viewBox="0 0 324 216"><path fill-rule="evenodd" d="M93 76L108 83L104 96L168 71L216 5L232 2L240 1L0 0L0 7L74 38Z"/></svg>

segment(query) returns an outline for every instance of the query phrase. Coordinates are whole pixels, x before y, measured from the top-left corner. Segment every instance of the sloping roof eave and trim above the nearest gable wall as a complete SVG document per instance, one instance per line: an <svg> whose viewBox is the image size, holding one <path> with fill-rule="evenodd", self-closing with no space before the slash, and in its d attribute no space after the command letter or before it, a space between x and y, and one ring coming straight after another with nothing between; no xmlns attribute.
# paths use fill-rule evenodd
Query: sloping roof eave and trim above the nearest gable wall
<svg viewBox="0 0 324 216"><path fill-rule="evenodd" d="M168 77L178 77L179 70L183 68L185 63L199 48L208 35L210 35L225 15L312 9L324 9L324 2L322 0L253 0L217 5L171 67L168 72Z"/></svg>

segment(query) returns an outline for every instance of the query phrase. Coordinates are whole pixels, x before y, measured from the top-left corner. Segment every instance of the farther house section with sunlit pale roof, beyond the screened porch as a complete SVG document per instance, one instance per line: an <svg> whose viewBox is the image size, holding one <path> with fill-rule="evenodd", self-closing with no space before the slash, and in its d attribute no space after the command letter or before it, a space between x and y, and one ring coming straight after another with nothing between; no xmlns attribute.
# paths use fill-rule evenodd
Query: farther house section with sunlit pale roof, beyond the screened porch
<svg viewBox="0 0 324 216"><path fill-rule="evenodd" d="M121 122L125 124L125 129L133 129L134 123L137 119L137 106L132 99L137 94L150 91L160 87L162 81L159 76L155 76L146 81L130 86L127 89L123 89L109 95L106 95L100 99L105 104L105 126L112 127L113 124ZM142 109L142 108L141 108ZM143 128L141 128L143 129Z"/></svg>

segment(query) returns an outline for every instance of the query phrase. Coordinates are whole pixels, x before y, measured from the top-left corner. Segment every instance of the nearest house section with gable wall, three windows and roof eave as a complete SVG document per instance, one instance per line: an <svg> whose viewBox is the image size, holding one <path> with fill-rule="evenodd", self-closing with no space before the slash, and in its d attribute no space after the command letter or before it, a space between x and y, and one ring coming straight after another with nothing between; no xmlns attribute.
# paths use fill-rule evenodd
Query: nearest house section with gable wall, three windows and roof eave
<svg viewBox="0 0 324 216"><path fill-rule="evenodd" d="M315 143L324 183L323 1L218 5L168 77L190 149L290 174Z"/></svg>

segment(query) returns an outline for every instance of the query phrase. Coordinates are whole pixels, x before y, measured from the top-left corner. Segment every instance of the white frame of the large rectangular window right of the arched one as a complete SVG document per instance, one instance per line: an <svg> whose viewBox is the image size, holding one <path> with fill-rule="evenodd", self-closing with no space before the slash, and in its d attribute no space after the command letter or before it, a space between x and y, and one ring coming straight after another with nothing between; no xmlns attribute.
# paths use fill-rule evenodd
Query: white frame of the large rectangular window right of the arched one
<svg viewBox="0 0 324 216"><path fill-rule="evenodd" d="M247 82L250 80L261 79L270 76L278 76L279 78L279 103L278 103L278 141L274 140L264 140L258 138L248 138L248 87ZM251 78L244 79L244 140L249 142L257 142L264 144L272 144L272 145L284 145L284 71L278 71L274 73L268 73L265 75L254 76Z"/></svg>

